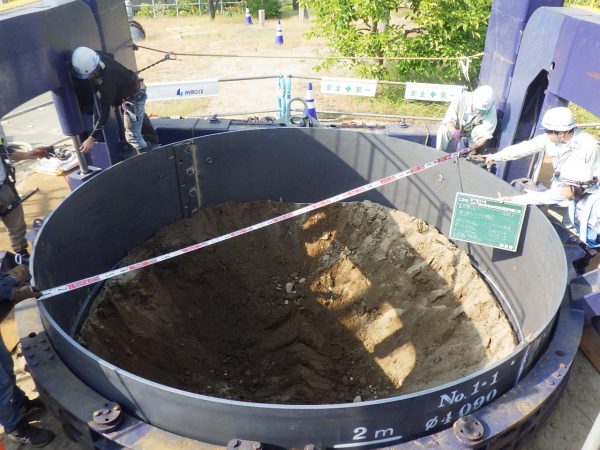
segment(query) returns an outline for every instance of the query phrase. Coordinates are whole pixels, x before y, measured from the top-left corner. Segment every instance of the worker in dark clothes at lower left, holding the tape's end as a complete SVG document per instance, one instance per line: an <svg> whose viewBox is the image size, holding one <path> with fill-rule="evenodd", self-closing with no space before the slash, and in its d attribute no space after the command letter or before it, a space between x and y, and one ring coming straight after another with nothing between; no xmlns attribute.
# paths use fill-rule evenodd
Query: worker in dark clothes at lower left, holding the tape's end
<svg viewBox="0 0 600 450"><path fill-rule="evenodd" d="M0 304L10 310L28 298L39 297L39 292L29 285L31 275L27 266L17 265L7 273L0 272ZM10 352L0 335L0 425L9 439L43 447L54 439L51 431L29 423L29 418L40 411L44 404L39 398L29 399L17 386Z"/></svg>

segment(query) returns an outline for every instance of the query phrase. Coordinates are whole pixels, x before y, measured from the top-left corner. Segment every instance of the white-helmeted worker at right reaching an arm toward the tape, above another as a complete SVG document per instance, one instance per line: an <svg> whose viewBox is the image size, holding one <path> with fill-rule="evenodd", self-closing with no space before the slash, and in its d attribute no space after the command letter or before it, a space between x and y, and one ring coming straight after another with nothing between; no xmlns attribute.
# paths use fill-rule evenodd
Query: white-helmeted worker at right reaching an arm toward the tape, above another
<svg viewBox="0 0 600 450"><path fill-rule="evenodd" d="M554 176L551 188L544 191L538 204L558 204L564 198L561 191L554 189L566 161L575 158L587 165L595 176L600 175L600 147L598 141L575 126L573 113L569 108L551 108L542 117L545 133L528 141L510 145L503 150L482 155L488 166L497 161L511 161L544 151L552 157ZM544 199L543 201L541 199Z"/></svg>

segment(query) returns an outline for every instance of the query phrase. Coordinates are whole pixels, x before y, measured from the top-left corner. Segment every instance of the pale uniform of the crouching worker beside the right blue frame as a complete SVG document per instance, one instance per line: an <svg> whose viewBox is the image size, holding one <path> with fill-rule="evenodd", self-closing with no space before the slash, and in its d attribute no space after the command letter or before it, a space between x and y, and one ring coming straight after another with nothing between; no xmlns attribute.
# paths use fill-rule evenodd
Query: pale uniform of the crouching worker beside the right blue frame
<svg viewBox="0 0 600 450"><path fill-rule="evenodd" d="M452 123L461 131L461 137L468 139L471 147L480 139L492 139L498 118L494 105L487 111L473 111L473 94L462 92L450 103L442 125L438 129L435 148L445 151L452 139L446 124Z"/></svg>

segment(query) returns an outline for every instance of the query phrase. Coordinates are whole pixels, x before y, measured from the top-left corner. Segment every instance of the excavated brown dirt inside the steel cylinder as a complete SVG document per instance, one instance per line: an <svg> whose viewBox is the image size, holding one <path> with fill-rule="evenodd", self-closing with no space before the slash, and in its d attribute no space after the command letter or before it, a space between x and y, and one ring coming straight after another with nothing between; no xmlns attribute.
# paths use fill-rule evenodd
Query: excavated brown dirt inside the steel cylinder
<svg viewBox="0 0 600 450"><path fill-rule="evenodd" d="M295 208L211 206L125 263ZM516 345L464 252L424 221L371 202L332 205L109 280L80 342L179 389L290 404L439 385Z"/></svg>

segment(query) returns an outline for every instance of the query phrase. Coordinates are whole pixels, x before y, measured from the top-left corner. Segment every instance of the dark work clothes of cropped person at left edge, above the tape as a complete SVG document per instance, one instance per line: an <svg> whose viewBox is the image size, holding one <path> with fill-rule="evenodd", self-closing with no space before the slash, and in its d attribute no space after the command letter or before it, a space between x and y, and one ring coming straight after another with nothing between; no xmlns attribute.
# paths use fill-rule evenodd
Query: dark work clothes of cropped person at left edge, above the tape
<svg viewBox="0 0 600 450"><path fill-rule="evenodd" d="M0 145L0 147L4 148ZM0 152L0 158L6 157ZM27 251L27 225L25 224L25 213L17 197L12 182L8 179L4 164L0 163L0 219L8 230L10 244L15 253Z"/></svg>

